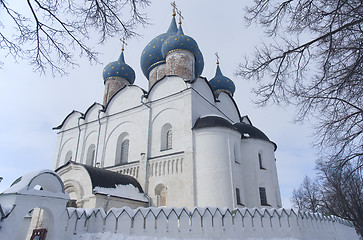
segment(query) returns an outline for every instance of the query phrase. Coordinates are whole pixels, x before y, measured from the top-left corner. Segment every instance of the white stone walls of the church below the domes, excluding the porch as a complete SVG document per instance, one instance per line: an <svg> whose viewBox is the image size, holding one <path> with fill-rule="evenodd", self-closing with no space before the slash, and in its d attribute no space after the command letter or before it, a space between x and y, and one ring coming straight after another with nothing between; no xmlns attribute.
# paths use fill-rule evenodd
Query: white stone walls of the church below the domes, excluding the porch
<svg viewBox="0 0 363 240"><path fill-rule="evenodd" d="M241 139L236 129L223 126L193 130L206 116L241 121L233 99L226 93L215 99L203 78L166 76L146 94L135 85L125 86L105 107L94 104L85 114L67 116L59 127L53 166L72 160L131 175L153 206L260 207L259 187L264 187L266 206L281 207L274 144ZM169 147L165 127L172 133ZM121 163L124 140L128 154ZM266 169L260 169L258 153Z"/></svg>

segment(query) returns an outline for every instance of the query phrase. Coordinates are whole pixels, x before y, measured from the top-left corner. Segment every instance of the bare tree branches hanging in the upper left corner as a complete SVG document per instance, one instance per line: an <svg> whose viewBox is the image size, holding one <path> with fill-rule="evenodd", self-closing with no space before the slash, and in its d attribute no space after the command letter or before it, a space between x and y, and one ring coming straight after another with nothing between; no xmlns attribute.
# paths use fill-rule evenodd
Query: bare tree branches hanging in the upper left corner
<svg viewBox="0 0 363 240"><path fill-rule="evenodd" d="M0 0L0 11L12 24L0 17L0 50L15 59L28 59L36 71L47 69L66 74L66 67L77 65L75 49L80 56L97 62L97 52L88 45L90 30L99 32L100 42L110 37L133 37L134 28L147 24L140 10L149 0L27 0L26 8L10 7ZM129 9L129 11L127 11ZM13 28L15 27L15 28ZM15 29L13 31L13 29Z"/></svg>

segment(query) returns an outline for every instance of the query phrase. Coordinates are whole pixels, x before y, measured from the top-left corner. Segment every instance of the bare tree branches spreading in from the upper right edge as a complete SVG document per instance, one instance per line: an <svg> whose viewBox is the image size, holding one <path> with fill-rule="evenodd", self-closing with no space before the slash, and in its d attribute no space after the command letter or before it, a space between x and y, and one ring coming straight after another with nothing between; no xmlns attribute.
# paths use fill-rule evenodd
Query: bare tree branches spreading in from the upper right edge
<svg viewBox="0 0 363 240"><path fill-rule="evenodd" d="M237 70L257 82L255 102L293 104L296 121L315 118L321 159L362 166L363 3L255 0L246 12L247 22L258 22L275 41Z"/></svg>

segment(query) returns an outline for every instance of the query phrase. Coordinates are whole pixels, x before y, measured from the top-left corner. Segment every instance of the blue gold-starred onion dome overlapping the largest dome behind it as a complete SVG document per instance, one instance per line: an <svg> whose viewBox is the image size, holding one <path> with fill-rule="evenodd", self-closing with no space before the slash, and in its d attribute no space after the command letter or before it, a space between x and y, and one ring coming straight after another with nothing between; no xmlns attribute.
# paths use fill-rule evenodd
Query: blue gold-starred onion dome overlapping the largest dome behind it
<svg viewBox="0 0 363 240"><path fill-rule="evenodd" d="M187 50L193 53L195 57L195 75L197 77L200 76L204 68L203 55L199 50L197 42L192 37L184 34L181 24L179 25L178 32L169 36L161 48L164 58L168 53L177 50Z"/></svg>

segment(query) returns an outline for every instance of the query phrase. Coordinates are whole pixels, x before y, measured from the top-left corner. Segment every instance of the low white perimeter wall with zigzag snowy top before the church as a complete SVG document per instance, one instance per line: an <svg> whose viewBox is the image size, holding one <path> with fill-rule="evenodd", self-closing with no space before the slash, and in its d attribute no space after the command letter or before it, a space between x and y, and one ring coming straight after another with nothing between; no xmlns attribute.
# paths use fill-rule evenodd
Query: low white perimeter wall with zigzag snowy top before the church
<svg viewBox="0 0 363 240"><path fill-rule="evenodd" d="M358 239L352 223L291 209L67 208L65 236L112 233L129 236L208 239ZM101 238L95 238L101 239Z"/></svg>

